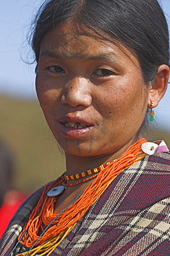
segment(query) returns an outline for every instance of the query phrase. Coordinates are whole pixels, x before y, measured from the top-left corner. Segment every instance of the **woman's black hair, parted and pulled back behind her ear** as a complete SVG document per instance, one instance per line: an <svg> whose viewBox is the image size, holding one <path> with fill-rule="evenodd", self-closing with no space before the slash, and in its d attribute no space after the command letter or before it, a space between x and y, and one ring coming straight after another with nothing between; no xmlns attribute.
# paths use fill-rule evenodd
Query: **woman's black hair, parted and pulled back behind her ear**
<svg viewBox="0 0 170 256"><path fill-rule="evenodd" d="M72 26L82 24L129 48L138 58L146 83L154 80L158 66L169 65L167 21L156 0L44 1L36 15L32 35L37 63L43 37L65 21Z"/></svg>

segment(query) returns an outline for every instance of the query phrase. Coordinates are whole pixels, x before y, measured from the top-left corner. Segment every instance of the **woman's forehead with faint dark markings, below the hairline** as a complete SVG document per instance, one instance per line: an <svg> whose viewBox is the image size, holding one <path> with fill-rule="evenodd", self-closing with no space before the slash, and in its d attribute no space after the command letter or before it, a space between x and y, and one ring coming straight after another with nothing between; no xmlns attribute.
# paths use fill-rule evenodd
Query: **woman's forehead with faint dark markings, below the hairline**
<svg viewBox="0 0 170 256"><path fill-rule="evenodd" d="M124 56L133 62L138 62L135 55L122 44L114 40L109 41L82 26L76 29L70 26L57 26L50 30L41 42L40 55L45 55L49 51L66 58L85 58L89 53L94 55L112 53L115 57Z"/></svg>

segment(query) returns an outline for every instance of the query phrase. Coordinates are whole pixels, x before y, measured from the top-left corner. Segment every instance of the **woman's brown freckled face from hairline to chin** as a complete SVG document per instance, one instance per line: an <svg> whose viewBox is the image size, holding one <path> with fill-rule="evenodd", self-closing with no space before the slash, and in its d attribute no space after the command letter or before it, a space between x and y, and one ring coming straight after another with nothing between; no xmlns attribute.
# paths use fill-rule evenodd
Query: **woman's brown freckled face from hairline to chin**
<svg viewBox="0 0 170 256"><path fill-rule="evenodd" d="M63 26L41 42L36 91L66 154L107 156L136 140L149 89L126 48Z"/></svg>

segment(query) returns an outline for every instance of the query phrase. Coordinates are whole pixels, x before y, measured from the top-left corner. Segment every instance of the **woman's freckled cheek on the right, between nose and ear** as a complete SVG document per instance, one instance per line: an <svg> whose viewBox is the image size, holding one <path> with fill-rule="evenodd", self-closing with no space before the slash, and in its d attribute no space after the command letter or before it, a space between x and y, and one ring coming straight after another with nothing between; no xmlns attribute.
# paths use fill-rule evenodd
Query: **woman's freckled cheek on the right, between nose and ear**
<svg viewBox="0 0 170 256"><path fill-rule="evenodd" d="M141 115L141 119L144 118L147 110L147 92L144 86L139 82L137 85L129 82L112 87L100 97L100 113L105 118L111 118L110 121L114 118L116 124L123 124L129 118L134 120L134 116L140 118Z"/></svg>

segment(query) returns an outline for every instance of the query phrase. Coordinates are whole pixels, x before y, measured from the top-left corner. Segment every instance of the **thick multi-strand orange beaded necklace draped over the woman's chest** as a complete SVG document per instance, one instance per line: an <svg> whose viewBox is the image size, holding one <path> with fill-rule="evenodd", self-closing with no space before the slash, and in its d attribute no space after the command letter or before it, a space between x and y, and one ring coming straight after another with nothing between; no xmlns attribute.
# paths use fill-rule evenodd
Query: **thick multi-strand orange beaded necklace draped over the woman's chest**
<svg viewBox="0 0 170 256"><path fill-rule="evenodd" d="M34 255L35 251L36 253L47 251L52 253L54 248L56 248L68 232L72 230L76 223L96 202L116 176L118 176L120 172L123 172L125 168L133 165L136 161L146 156L141 150L141 145L146 142L147 140L142 138L134 143L134 145L131 145L123 156L100 171L94 182L86 188L83 194L57 216L54 214L54 203L56 202L56 198L48 197L46 194L56 185L61 185L65 181L65 177L61 176L59 181L54 181L53 183L45 185L39 202L32 210L30 218L27 223L25 223L25 226L19 235L19 243L25 245L27 248L31 248L27 255ZM43 224L49 226L49 228L45 230L43 235L39 236L39 230L44 230ZM37 247L32 248L34 246ZM32 252L34 253L30 254ZM23 255L25 255L25 253L23 253ZM40 255L44 255L44 253Z"/></svg>

